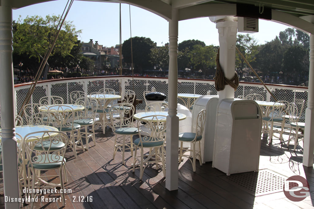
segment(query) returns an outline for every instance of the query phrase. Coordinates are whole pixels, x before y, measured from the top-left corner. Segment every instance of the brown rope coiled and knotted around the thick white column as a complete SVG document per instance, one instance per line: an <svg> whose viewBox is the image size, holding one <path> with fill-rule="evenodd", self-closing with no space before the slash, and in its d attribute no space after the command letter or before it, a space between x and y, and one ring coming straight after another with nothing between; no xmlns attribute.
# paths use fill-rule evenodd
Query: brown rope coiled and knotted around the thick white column
<svg viewBox="0 0 314 209"><path fill-rule="evenodd" d="M225 89L225 85L229 85L232 88L236 89L239 86L239 77L237 72L235 71L235 76L233 76L233 78L231 80L229 80L228 78L225 77L225 73L224 71L222 71L220 63L219 63L219 49L218 48L218 52L216 55L216 64L217 64L217 69L216 69L216 73L215 73L215 89L217 91L221 91ZM234 81L234 82L233 82Z"/></svg>

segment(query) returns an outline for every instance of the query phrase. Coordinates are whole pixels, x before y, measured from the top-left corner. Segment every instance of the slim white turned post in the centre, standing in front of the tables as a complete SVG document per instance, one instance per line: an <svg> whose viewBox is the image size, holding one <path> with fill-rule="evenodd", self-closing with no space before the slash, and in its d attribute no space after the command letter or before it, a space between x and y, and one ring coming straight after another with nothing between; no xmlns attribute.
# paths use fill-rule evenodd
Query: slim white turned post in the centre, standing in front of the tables
<svg viewBox="0 0 314 209"><path fill-rule="evenodd" d="M169 82L168 82L168 116L167 116L167 158L166 158L166 188L178 189L178 147L179 118L178 106L178 10L172 9L172 19L169 21Z"/></svg>

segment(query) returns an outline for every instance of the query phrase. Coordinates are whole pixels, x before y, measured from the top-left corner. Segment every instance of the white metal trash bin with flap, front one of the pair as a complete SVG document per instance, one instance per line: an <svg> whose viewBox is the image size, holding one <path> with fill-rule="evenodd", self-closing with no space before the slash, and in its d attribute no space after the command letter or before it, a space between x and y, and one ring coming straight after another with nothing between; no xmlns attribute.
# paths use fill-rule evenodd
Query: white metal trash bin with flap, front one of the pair
<svg viewBox="0 0 314 209"><path fill-rule="evenodd" d="M218 104L213 167L227 175L258 170L261 109L253 100L223 99Z"/></svg>

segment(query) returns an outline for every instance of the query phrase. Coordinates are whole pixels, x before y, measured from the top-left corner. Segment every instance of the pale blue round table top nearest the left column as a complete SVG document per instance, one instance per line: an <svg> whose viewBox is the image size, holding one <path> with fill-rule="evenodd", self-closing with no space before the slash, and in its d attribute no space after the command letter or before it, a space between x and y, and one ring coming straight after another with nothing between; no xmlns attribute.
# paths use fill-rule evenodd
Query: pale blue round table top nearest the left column
<svg viewBox="0 0 314 209"><path fill-rule="evenodd" d="M1 131L1 129L0 129ZM24 137L32 132L37 132L37 131L59 131L57 128L52 127L52 126L44 126L44 125L28 125L28 126L16 126L15 127L15 132L18 133L19 135L21 135L21 137ZM56 136L58 133L49 133L51 137ZM46 138L48 138L48 135L45 135ZM45 136L43 137L43 139L46 139ZM28 140L27 141L32 141L32 139L30 137L35 137L34 140L36 140L37 138L41 138L42 137L42 133L34 133L28 136ZM36 138L37 137L37 138ZM1 140L1 137L0 137Z"/></svg>

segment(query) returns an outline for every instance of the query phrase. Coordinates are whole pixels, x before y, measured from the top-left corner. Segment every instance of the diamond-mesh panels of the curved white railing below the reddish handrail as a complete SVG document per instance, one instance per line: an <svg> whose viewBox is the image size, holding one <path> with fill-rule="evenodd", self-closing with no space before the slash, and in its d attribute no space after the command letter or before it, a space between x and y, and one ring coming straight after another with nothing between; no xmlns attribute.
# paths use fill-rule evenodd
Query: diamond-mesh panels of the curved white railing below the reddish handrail
<svg viewBox="0 0 314 209"><path fill-rule="evenodd" d="M63 83L56 83L51 84L51 95L52 96L60 96L64 99L65 102L69 102L67 99L69 98L69 95L67 95L67 86L68 86L68 94L70 94L72 91L85 91L84 89L84 82L87 82L87 94L95 91L99 91L102 88L111 88L116 91L116 94L120 95L121 91L121 81L122 79L108 79L103 78L94 81L90 80L84 80L81 79L79 81L71 81ZM125 89L133 90L133 81L132 79L126 79ZM245 86L244 86L245 85ZM239 96L246 97L248 94L261 94L264 97L264 100L266 101L267 98L267 91L264 89L263 86L257 85L257 86L247 86L247 84L239 85L236 92L235 92L235 98ZM46 92L47 85L43 86L36 86L36 89L32 96L32 102L38 103L39 99L41 97L47 96ZM158 79L152 79L152 80L142 80L141 78L134 78L134 90L136 93L136 97L139 100L143 100L143 91L151 90L152 87L155 87L157 92L162 92L165 95L168 96L168 83L165 80L158 80ZM17 111L21 108L21 104L24 101L24 98L26 96L28 88L25 87L25 89L19 89L16 91L16 105L17 105ZM217 95L217 91L215 90L214 81L180 81L178 82L178 93L195 93L200 95L206 95L207 91L210 90L211 95ZM303 100L306 100L306 103L304 105L302 116L300 118L301 122L304 122L305 118L305 109L307 107L307 91L299 91L299 90L293 90L293 89L280 89L275 88L273 89L273 94L277 98L277 100L285 100L288 102L295 102L298 106L298 109L301 108L301 103ZM168 98L166 98L168 100ZM270 97L270 101L274 101L272 97ZM180 102L180 99L178 100ZM136 106L138 110L144 110L145 104L140 103Z"/></svg>

